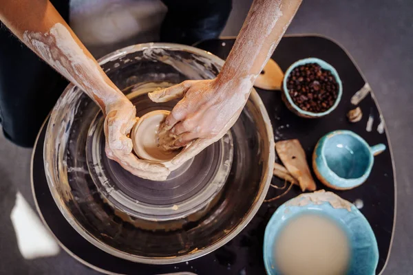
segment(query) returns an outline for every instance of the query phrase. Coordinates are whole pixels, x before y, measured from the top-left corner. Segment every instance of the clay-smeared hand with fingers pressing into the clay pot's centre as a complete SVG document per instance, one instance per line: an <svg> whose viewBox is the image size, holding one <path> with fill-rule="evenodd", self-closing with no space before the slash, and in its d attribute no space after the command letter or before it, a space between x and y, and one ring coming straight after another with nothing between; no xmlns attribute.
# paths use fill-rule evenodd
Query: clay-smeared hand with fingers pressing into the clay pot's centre
<svg viewBox="0 0 413 275"><path fill-rule="evenodd" d="M187 80L149 93L149 98L154 102L167 102L183 96L161 126L159 143L162 149L180 148L193 140L198 148L205 148L220 140L244 108L253 86L253 82L247 80L237 83L220 83L218 78ZM192 147L195 144L191 144ZM187 148L184 151L188 151Z"/></svg>

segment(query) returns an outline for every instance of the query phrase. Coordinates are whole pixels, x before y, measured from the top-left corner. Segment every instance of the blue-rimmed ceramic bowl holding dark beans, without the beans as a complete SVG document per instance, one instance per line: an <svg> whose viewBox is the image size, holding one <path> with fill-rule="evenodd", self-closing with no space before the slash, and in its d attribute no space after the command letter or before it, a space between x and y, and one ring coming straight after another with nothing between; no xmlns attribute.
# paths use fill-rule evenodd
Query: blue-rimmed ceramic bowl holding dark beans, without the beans
<svg viewBox="0 0 413 275"><path fill-rule="evenodd" d="M288 94L287 80L288 80L288 76L290 76L290 73L293 71L293 69L295 69L295 67L310 64L310 63L317 63L318 65L321 66L321 68L330 71L332 76L335 77L337 84L339 85L339 91L338 91L337 99L335 103L332 105L332 107L330 107L330 109L322 113L313 113L310 111L304 111L303 109L300 109L293 102L293 99L290 97L290 94ZM284 75L284 79L282 80L282 100L286 104L286 107L290 109L290 111L293 111L293 113L301 116L302 118L321 118L324 115L328 115L329 113L332 112L332 110L336 109L337 105L339 104L341 100L341 94L343 94L343 84L341 83L341 79L336 69L332 67L332 65L326 63L326 61L322 61L319 58L311 57L311 58L305 58L305 59L296 61L295 63L293 63L293 65L290 65L290 67L287 69L286 74Z"/></svg>

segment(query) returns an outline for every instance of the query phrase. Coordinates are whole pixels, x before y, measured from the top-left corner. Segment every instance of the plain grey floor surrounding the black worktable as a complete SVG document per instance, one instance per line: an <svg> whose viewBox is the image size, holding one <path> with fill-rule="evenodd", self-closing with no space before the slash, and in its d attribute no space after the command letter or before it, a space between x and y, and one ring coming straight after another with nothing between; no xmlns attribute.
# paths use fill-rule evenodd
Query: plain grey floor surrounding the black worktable
<svg viewBox="0 0 413 275"><path fill-rule="evenodd" d="M251 3L233 0L222 36L238 34ZM310 0L303 1L287 30L288 34L324 34L343 45L357 61L383 111L392 142L398 193L392 253L384 275L413 274L412 13L412 0ZM0 133L0 274L97 274L64 251L34 260L24 259L19 252L10 211L16 192L21 192L34 209L30 155L30 149L14 146Z"/></svg>

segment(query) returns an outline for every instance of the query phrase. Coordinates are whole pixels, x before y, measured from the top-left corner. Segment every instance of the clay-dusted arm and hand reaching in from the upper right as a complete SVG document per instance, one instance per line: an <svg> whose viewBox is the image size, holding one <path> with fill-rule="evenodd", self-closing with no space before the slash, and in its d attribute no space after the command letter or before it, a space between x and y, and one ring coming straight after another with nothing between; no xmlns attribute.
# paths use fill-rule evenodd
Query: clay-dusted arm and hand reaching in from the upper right
<svg viewBox="0 0 413 275"><path fill-rule="evenodd" d="M255 78L273 54L300 3L301 0L255 0L217 78L187 80L149 94L155 102L183 96L159 133L164 150L195 140L189 146L196 147L194 152L201 151L235 124Z"/></svg>

